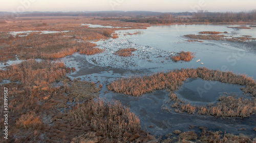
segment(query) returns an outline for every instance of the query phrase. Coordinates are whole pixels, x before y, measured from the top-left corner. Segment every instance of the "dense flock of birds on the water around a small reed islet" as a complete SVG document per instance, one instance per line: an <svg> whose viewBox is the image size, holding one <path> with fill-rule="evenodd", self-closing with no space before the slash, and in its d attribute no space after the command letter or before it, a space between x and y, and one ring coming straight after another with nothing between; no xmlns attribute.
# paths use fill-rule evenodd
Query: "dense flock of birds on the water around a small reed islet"
<svg viewBox="0 0 256 143"><path fill-rule="evenodd" d="M90 57L91 61L94 64L101 66L110 66L114 68L136 68L141 67L141 61L143 63L148 63L148 66L153 66L152 64L156 64L157 67L161 63L161 61L166 61L166 57L173 55L174 52L161 50L158 48L154 48L148 45L139 45L135 42L138 39L131 39L127 36L123 36L123 33L119 33L118 39L112 39L109 41L105 41L101 44L98 44L98 47L104 48L105 52L92 55ZM136 51L133 51L132 56L119 56L116 55L115 52L122 48L136 48ZM168 58L170 61L170 59Z"/></svg>

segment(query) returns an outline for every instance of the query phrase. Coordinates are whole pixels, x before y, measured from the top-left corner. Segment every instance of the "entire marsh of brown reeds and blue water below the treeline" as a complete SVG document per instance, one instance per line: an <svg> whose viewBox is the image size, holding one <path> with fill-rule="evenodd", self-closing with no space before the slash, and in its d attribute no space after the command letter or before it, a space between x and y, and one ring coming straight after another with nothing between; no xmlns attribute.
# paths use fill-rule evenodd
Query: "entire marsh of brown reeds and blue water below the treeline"
<svg viewBox="0 0 256 143"><path fill-rule="evenodd" d="M256 27L58 20L1 32L12 142L256 141Z"/></svg>

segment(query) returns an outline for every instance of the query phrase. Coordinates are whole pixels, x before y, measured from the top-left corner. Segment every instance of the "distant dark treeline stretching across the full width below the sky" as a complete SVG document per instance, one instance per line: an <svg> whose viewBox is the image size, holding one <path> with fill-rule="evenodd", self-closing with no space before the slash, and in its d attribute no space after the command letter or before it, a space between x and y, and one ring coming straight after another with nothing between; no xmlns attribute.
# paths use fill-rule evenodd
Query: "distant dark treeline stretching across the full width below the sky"
<svg viewBox="0 0 256 143"><path fill-rule="evenodd" d="M254 22L256 9L248 12L180 12L161 13L150 11L99 11L99 12L24 12L7 13L0 12L1 17L44 17L44 16L98 16L103 20L122 20L126 22L139 22L150 24L191 23L191 22ZM131 18L123 18L130 16ZM103 18L100 18L103 17Z"/></svg>

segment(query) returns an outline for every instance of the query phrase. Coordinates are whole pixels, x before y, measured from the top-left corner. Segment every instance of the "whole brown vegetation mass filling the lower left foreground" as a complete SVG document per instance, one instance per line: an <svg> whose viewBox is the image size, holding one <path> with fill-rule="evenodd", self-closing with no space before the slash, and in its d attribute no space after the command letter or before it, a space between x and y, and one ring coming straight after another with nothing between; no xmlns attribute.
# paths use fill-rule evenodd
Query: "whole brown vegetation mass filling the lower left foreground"
<svg viewBox="0 0 256 143"><path fill-rule="evenodd" d="M9 139L2 137L3 141L70 142L88 133L99 142L155 140L141 129L138 117L129 108L117 101L92 100L99 91L96 84L71 80L65 77L66 69L63 63L28 60L0 71L1 80L15 81L1 85L9 89L11 126ZM84 102L67 104L78 101Z"/></svg>

